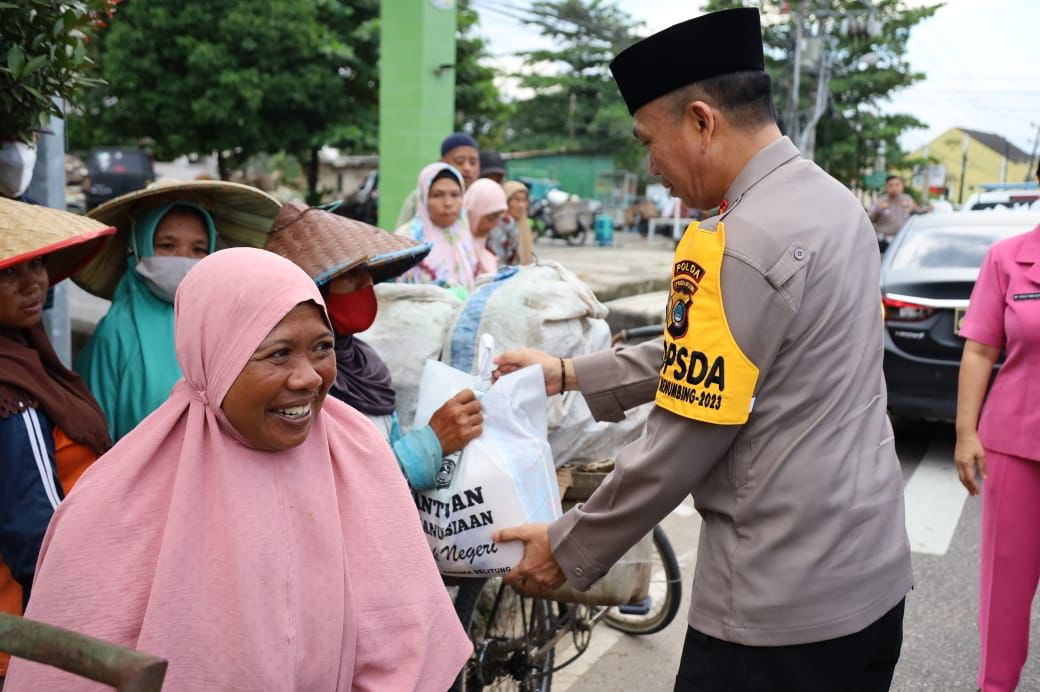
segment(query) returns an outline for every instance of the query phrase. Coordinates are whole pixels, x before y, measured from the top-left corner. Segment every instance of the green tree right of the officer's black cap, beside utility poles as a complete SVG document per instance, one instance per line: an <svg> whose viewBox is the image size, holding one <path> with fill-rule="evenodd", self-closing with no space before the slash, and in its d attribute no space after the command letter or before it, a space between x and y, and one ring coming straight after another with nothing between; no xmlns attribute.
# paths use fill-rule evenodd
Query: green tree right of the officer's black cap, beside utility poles
<svg viewBox="0 0 1040 692"><path fill-rule="evenodd" d="M726 9L747 3L740 0L709 0L705 9ZM907 61L910 29L931 17L940 5L909 7L902 0L765 0L755 3L762 12L766 69L773 75L775 103L785 132L800 129L815 110L818 69L803 66L797 106L791 105L794 86L795 18L801 9L803 36L815 31L824 37L831 78L815 130L814 158L831 175L849 184L859 184L862 172L872 168L884 147L890 165L900 166L906 153L899 136L924 127L912 116L885 113L882 103L892 92L924 79ZM783 10L781 10L783 7ZM843 31L850 24L862 29L876 22L877 35ZM797 119L797 122L791 122Z"/></svg>

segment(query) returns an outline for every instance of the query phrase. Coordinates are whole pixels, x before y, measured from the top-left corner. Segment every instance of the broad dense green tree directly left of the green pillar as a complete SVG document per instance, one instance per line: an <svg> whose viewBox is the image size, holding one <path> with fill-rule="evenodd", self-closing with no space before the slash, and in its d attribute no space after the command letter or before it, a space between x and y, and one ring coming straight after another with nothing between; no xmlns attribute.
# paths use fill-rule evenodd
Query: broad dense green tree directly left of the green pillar
<svg viewBox="0 0 1040 692"><path fill-rule="evenodd" d="M77 144L147 137L161 158L215 152L222 177L251 154L288 151L308 163L313 193L322 144L371 138L376 10L378 0L127 2L99 42L108 85L78 119Z"/></svg>

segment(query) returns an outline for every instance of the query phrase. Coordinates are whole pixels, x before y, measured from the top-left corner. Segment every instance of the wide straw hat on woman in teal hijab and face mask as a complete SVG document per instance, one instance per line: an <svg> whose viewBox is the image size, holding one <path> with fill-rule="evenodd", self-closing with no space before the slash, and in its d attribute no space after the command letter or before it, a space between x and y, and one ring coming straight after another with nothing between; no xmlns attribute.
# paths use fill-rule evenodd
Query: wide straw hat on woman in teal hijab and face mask
<svg viewBox="0 0 1040 692"><path fill-rule="evenodd" d="M114 226L115 237L73 281L100 296L112 297L127 271L130 229L141 211L171 202L191 202L209 211L216 226L216 248L262 248L281 203L263 190L224 180L170 181L109 200L87 215Z"/></svg>

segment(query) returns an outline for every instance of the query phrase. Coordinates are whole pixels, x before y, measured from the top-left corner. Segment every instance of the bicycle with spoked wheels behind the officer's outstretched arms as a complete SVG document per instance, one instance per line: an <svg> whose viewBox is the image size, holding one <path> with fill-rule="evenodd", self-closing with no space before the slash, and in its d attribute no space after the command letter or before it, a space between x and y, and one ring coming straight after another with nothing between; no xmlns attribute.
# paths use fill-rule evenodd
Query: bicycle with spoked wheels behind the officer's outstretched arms
<svg viewBox="0 0 1040 692"><path fill-rule="evenodd" d="M627 606L591 606L524 596L500 579L470 580L460 586L456 612L473 641L473 655L452 690L548 692L552 674L589 647L592 631L603 621L629 635L660 632L672 622L682 599L681 573L665 530L652 532L649 594ZM573 655L556 661L556 645L570 637Z"/></svg>

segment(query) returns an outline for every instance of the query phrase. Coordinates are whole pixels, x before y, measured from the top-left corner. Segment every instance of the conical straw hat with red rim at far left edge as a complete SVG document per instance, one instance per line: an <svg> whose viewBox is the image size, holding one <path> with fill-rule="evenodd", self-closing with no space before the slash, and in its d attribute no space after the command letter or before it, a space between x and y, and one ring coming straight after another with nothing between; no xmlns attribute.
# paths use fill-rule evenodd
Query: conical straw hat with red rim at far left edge
<svg viewBox="0 0 1040 692"><path fill-rule="evenodd" d="M51 285L94 257L115 233L68 211L0 197L0 270L47 256Z"/></svg>

